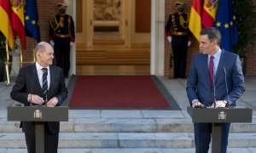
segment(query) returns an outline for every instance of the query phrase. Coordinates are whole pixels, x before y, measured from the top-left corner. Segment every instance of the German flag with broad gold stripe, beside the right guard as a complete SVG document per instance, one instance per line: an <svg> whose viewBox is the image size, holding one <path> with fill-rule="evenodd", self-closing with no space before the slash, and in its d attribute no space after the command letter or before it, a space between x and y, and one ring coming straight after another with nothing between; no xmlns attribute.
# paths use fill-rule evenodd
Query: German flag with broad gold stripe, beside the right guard
<svg viewBox="0 0 256 153"><path fill-rule="evenodd" d="M189 17L189 30L193 33L195 38L199 41L201 31L201 14L202 14L202 0L193 0L191 13Z"/></svg>

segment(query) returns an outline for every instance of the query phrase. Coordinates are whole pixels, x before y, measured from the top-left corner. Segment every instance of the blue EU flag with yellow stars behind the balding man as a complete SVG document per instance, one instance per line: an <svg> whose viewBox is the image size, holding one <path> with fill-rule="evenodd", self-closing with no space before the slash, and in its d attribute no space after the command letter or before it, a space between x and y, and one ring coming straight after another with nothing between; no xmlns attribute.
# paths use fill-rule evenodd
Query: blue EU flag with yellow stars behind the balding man
<svg viewBox="0 0 256 153"><path fill-rule="evenodd" d="M37 0L26 0L25 6L25 27L28 36L33 37L37 42L41 42L38 26L38 5Z"/></svg>

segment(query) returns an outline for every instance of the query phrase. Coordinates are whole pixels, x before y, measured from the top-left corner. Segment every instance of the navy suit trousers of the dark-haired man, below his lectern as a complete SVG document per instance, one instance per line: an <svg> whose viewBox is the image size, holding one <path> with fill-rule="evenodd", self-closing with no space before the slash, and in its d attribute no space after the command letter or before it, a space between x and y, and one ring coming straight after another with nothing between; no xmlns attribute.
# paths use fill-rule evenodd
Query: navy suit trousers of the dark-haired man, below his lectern
<svg viewBox="0 0 256 153"><path fill-rule="evenodd" d="M212 138L212 123L194 123L195 130L195 152L207 153ZM227 152L230 123L222 123L221 153Z"/></svg>

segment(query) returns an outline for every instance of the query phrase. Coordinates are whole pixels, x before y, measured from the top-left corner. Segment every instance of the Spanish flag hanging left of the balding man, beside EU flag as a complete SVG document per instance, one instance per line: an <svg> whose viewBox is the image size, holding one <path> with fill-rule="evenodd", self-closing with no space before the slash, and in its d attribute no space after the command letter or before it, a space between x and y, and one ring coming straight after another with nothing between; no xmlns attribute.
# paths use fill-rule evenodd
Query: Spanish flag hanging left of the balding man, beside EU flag
<svg viewBox="0 0 256 153"><path fill-rule="evenodd" d="M11 25L15 36L20 37L23 48L26 48L25 21L24 21L24 0L13 0L11 11Z"/></svg>

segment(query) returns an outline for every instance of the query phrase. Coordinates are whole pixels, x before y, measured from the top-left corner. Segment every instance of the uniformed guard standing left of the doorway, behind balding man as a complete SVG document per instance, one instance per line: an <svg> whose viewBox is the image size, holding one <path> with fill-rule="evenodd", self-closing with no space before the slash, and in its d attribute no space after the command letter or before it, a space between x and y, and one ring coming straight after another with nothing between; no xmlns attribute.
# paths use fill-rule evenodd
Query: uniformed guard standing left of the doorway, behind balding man
<svg viewBox="0 0 256 153"><path fill-rule="evenodd" d="M61 67L67 78L70 69L70 47L75 42L72 16L66 14L67 4L57 3L59 14L50 19L49 42L55 49L56 65Z"/></svg>

